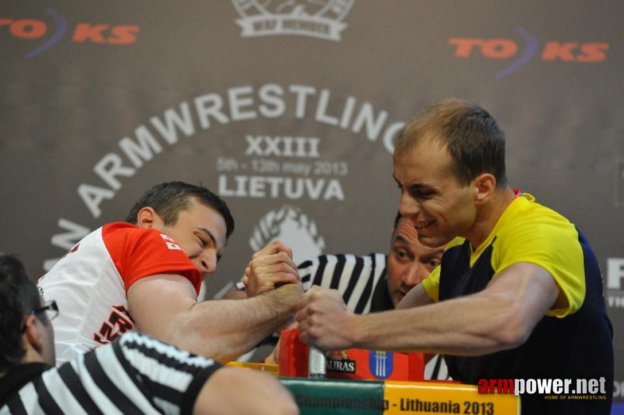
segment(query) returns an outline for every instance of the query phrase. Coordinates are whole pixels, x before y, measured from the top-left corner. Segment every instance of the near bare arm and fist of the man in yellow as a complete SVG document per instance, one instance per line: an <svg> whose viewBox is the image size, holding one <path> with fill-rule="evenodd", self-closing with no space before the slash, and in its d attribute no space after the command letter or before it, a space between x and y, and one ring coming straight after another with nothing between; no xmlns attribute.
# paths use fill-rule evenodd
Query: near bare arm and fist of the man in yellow
<svg viewBox="0 0 624 415"><path fill-rule="evenodd" d="M428 304L426 293L416 289L415 297L406 296L399 305L420 306L354 315L338 291L311 288L297 304L301 338L326 350L360 347L472 356L522 344L560 301L551 275L527 263L508 266L479 293L437 304Z"/></svg>

